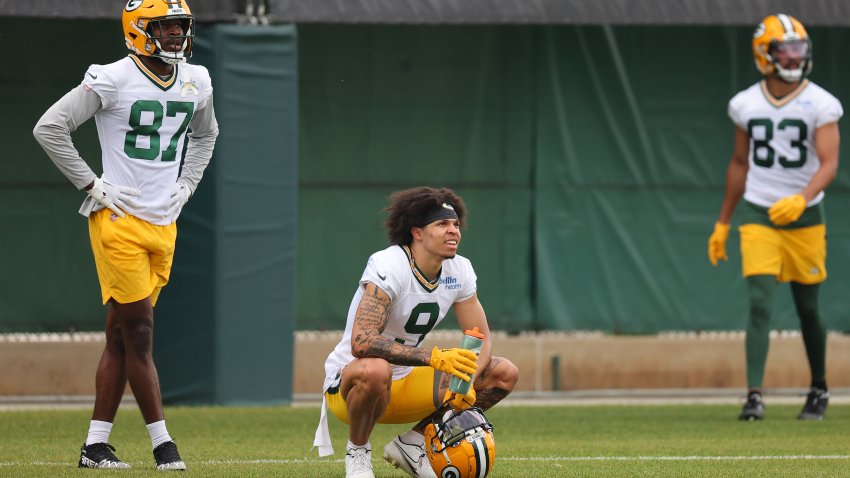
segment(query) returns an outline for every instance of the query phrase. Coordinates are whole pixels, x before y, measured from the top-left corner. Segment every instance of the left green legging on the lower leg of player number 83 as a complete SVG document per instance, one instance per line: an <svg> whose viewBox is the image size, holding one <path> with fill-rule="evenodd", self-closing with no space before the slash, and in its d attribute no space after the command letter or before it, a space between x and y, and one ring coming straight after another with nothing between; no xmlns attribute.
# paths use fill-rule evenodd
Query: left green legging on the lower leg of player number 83
<svg viewBox="0 0 850 478"><path fill-rule="evenodd" d="M747 386L761 388L764 364L770 346L770 312L776 277L758 275L747 277L750 295L750 318L747 321L745 347L747 351Z"/></svg>

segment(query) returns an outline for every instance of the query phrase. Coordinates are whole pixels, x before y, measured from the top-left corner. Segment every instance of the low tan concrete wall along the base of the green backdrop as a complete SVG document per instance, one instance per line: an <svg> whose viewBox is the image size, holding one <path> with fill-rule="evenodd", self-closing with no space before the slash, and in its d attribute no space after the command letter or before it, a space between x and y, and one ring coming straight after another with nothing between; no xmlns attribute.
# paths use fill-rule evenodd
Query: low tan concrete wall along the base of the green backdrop
<svg viewBox="0 0 850 478"><path fill-rule="evenodd" d="M425 347L460 343L458 333L431 335ZM340 336L340 332L296 334L296 396L318 396L325 357ZM94 395L102 334L39 337L0 336L0 398ZM565 391L745 387L741 333L634 337L497 333L493 349L495 355L519 366L517 391L523 392L550 391L555 381ZM557 378L552 373L556 356ZM850 387L850 336L830 334L827 382L833 388ZM764 385L768 389L808 387L808 364L799 334L773 335Z"/></svg>

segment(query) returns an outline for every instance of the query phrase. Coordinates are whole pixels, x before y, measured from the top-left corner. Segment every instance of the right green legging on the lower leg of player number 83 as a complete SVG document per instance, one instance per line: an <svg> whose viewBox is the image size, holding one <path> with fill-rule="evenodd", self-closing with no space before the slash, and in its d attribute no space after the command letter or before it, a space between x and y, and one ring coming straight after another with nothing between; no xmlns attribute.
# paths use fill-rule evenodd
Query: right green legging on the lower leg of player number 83
<svg viewBox="0 0 850 478"><path fill-rule="evenodd" d="M791 283L791 293L794 296L797 315L800 317L800 331L803 333L803 343L806 344L806 356L809 358L813 383L823 382L826 377L826 328L818 314L819 285ZM824 390L825 386L826 384Z"/></svg>

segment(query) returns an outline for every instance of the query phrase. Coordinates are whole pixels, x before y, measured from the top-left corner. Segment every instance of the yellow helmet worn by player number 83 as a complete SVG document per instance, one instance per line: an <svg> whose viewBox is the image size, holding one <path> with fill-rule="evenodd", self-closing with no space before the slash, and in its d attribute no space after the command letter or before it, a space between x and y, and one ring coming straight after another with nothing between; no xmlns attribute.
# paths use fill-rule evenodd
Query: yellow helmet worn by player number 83
<svg viewBox="0 0 850 478"><path fill-rule="evenodd" d="M777 60L779 53L800 60L797 68L786 69ZM812 71L812 42L803 24L791 15L779 13L765 17L753 33L753 56L762 75L776 75L796 83Z"/></svg>

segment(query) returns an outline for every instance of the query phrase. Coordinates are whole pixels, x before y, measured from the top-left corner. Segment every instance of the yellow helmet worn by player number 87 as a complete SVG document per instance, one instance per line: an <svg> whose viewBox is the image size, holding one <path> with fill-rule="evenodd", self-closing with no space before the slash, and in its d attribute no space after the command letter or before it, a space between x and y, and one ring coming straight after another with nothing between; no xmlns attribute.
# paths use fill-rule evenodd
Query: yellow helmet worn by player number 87
<svg viewBox="0 0 850 478"><path fill-rule="evenodd" d="M162 49L161 23L179 20L183 27L180 51ZM121 15L127 48L141 56L152 56L166 63L179 63L192 56L195 21L185 0L129 0Z"/></svg>

